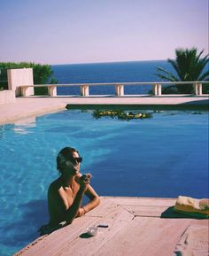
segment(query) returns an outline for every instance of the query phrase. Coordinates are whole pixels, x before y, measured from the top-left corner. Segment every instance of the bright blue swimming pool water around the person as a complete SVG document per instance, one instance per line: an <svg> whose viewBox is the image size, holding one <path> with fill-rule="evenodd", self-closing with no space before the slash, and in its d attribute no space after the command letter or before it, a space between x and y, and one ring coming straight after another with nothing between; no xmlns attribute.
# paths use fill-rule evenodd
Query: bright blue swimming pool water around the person
<svg viewBox="0 0 209 256"><path fill-rule="evenodd" d="M48 221L47 189L67 145L80 151L100 195L208 198L208 112L122 111L148 115L96 119L75 109L0 127L0 255L30 243Z"/></svg>

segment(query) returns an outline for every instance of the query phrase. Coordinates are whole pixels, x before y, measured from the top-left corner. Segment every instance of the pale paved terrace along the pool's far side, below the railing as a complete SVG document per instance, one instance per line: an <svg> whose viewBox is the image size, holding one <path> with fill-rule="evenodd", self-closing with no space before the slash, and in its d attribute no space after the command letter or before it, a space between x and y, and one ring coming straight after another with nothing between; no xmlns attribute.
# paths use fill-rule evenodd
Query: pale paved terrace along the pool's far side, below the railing
<svg viewBox="0 0 209 256"><path fill-rule="evenodd" d="M17 97L14 103L0 105L0 125L16 120L58 112L69 106L137 105L146 106L195 106L208 109L208 95L201 97L179 96L91 96L91 97Z"/></svg>

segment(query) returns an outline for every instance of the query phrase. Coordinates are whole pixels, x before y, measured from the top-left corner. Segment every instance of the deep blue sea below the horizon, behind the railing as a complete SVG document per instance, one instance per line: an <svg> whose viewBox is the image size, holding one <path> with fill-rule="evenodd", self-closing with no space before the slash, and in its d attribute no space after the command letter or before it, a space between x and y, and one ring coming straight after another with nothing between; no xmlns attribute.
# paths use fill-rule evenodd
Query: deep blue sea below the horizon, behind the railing
<svg viewBox="0 0 209 256"><path fill-rule="evenodd" d="M160 81L157 67L172 70L166 60L130 61L93 64L53 65L51 69L58 83ZM125 94L145 94L151 86L125 86ZM58 95L80 94L78 87L58 88ZM112 95L113 86L90 87L91 95Z"/></svg>

